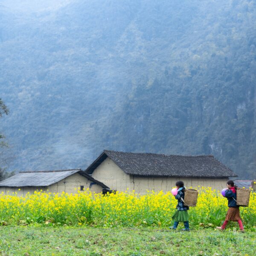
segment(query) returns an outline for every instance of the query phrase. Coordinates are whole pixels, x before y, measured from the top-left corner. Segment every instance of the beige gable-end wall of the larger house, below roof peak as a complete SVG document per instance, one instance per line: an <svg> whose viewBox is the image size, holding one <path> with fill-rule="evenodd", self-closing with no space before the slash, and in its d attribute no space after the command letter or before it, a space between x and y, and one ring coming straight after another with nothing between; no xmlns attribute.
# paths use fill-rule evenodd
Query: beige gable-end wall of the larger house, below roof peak
<svg viewBox="0 0 256 256"><path fill-rule="evenodd" d="M109 157L93 171L92 177L117 191L131 188L129 175L125 174Z"/></svg>

